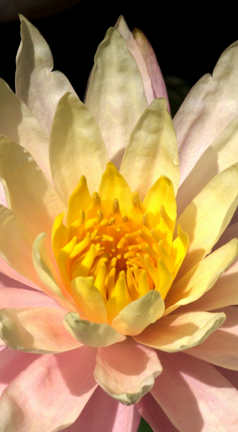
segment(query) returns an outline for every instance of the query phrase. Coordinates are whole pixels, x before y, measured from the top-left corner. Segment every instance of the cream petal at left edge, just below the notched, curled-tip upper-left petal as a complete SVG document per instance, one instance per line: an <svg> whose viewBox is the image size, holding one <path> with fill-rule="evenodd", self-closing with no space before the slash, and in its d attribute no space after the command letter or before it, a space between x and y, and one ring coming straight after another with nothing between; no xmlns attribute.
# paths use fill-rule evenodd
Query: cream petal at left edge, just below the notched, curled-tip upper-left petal
<svg viewBox="0 0 238 432"><path fill-rule="evenodd" d="M28 150L52 182L48 156L48 136L38 119L10 87L0 79L0 131Z"/></svg>

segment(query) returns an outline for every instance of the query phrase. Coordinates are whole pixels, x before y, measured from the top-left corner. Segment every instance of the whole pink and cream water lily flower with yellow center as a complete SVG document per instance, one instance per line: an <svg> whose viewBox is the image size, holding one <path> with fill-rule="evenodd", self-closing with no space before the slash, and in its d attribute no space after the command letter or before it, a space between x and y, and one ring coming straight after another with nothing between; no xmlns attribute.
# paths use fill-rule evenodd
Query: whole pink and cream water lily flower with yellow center
<svg viewBox="0 0 238 432"><path fill-rule="evenodd" d="M16 95L0 80L0 431L235 432L238 44L173 125L123 17L85 104L24 17L21 37Z"/></svg>

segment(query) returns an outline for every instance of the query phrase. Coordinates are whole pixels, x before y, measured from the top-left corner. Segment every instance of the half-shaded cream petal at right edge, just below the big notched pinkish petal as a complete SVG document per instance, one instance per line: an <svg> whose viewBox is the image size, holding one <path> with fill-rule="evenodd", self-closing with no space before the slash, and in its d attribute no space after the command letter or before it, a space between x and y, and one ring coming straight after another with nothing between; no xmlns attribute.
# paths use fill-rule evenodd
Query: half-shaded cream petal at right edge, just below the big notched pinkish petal
<svg viewBox="0 0 238 432"><path fill-rule="evenodd" d="M178 215L215 175L238 161L238 155L236 156L237 141L238 116L222 130L212 145L205 150L181 184L177 194ZM193 156L193 152L190 156Z"/></svg>

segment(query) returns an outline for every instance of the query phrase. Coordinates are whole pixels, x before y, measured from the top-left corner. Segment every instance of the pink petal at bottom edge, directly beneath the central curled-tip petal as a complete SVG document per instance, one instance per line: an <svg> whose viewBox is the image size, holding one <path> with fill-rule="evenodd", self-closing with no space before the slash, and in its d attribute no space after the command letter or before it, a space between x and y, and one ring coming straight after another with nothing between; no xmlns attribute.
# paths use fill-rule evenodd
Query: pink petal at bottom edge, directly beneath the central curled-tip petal
<svg viewBox="0 0 238 432"><path fill-rule="evenodd" d="M141 416L134 405L126 407L96 388L84 410L65 432L137 432Z"/></svg>

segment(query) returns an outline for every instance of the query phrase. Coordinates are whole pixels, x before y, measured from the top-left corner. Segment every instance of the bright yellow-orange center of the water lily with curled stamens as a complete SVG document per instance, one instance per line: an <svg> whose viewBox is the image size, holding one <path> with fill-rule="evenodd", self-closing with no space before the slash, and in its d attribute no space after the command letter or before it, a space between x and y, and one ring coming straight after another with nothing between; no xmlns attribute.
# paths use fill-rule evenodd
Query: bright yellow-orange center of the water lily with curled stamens
<svg viewBox="0 0 238 432"><path fill-rule="evenodd" d="M122 214L117 197L111 198L110 213L97 192L90 197L82 176L69 198L66 226L64 214L55 219L52 247L64 286L79 309L71 281L80 276L91 277L99 290L109 324L151 289L165 299L189 244L180 226L173 240L176 201L167 177L158 179L143 203L134 192L131 208Z"/></svg>

